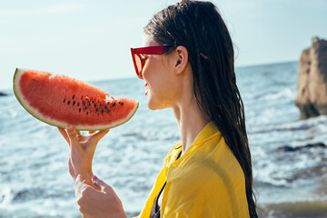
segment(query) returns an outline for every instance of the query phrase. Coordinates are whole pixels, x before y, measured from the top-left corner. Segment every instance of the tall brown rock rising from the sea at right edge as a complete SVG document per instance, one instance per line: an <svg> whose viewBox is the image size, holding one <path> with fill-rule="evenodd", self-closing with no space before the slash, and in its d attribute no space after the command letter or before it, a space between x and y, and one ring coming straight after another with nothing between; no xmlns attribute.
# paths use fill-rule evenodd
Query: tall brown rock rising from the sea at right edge
<svg viewBox="0 0 327 218"><path fill-rule="evenodd" d="M295 104L301 118L327 115L327 41L312 38L312 46L302 52Z"/></svg>

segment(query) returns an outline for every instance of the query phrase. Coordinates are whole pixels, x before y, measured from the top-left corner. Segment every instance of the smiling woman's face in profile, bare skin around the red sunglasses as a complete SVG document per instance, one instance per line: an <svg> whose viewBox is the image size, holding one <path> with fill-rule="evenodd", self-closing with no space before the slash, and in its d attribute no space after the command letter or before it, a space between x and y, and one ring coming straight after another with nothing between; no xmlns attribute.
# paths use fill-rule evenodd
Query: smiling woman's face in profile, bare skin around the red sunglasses
<svg viewBox="0 0 327 218"><path fill-rule="evenodd" d="M144 35L144 47L159 45ZM147 54L143 76L147 105L150 109L173 107L178 97L178 83L169 54Z"/></svg>

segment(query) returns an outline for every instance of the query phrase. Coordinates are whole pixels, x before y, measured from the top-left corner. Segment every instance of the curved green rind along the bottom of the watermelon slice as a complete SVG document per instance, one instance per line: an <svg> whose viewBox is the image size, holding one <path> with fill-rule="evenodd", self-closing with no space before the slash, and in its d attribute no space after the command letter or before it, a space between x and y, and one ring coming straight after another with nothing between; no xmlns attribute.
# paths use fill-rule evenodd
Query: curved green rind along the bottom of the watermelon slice
<svg viewBox="0 0 327 218"><path fill-rule="evenodd" d="M19 75L23 74L25 72L25 69L20 69L20 68L16 68L15 69L15 74L14 74L14 78L13 78L13 89L14 89L14 94L16 99L18 100L19 104L21 104L25 110L33 115L36 119L44 122L45 124L49 124L49 125L53 125L53 126L57 126L60 128L65 128L67 124L64 124L63 122L57 122L54 120L54 122L51 122L50 118L44 117L41 114L38 114L37 111L35 111L35 109L30 108L28 106L28 104L25 104L25 102L22 100L22 96L20 94L19 91L19 85L18 85L18 79L19 79ZM131 111L130 114L128 114L124 119L121 119L120 121L114 123L114 124L108 124L108 125L89 125L89 126L85 126L85 125L74 125L75 130L78 131L97 131L97 130L106 130L106 129L112 129L116 126L125 124L126 122L128 122L136 113L137 108L139 106L138 102L135 102L135 106L134 109ZM50 120L50 121L48 121ZM54 124L56 123L56 124Z"/></svg>

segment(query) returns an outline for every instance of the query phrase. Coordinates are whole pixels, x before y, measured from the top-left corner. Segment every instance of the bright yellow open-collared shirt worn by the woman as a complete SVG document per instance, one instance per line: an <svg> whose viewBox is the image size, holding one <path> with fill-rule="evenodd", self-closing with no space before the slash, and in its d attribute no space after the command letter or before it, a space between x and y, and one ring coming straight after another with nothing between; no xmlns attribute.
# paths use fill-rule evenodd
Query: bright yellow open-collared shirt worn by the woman
<svg viewBox="0 0 327 218"><path fill-rule="evenodd" d="M149 218L154 200L163 187L160 217L249 217L243 170L210 122L178 159L182 143L164 158L139 218Z"/></svg>

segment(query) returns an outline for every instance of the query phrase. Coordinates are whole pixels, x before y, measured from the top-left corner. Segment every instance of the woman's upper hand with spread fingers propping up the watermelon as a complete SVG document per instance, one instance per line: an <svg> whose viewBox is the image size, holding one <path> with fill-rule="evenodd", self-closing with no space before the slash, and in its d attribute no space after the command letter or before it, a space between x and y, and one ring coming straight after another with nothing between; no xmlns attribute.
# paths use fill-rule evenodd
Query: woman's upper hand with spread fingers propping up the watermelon
<svg viewBox="0 0 327 218"><path fill-rule="evenodd" d="M58 130L69 144L68 167L74 181L78 174L81 174L85 179L91 180L95 147L109 130L89 132L86 135L76 131L73 125L68 125L66 130L58 127Z"/></svg>

